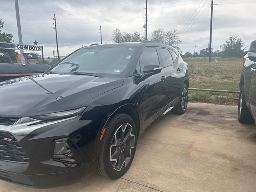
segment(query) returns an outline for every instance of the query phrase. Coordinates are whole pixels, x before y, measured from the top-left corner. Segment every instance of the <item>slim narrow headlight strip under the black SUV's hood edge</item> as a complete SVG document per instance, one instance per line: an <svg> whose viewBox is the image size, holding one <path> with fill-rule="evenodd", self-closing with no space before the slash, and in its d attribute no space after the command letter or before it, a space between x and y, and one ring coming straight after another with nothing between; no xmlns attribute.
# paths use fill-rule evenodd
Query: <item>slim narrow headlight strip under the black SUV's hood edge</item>
<svg viewBox="0 0 256 192"><path fill-rule="evenodd" d="M37 120L52 120L52 119L62 119L62 118L69 118L74 117L82 114L86 107L81 107L79 109L73 109L68 111L56 112L56 113L49 113L44 115L36 115L30 118L37 119Z"/></svg>

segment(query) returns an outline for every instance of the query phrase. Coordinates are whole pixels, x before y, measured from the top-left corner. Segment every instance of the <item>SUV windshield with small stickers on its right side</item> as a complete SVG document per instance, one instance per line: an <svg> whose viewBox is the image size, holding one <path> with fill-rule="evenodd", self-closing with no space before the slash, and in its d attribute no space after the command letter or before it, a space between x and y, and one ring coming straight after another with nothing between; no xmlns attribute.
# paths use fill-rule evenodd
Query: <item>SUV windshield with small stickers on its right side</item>
<svg viewBox="0 0 256 192"><path fill-rule="evenodd" d="M136 48L82 48L54 66L48 73L122 77Z"/></svg>

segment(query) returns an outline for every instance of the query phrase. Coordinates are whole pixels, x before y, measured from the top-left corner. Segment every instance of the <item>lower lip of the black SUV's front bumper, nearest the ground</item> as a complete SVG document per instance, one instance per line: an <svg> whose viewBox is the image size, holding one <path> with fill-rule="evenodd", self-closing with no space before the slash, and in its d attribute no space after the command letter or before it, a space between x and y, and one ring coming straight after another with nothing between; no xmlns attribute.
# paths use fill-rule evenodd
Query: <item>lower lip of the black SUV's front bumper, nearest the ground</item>
<svg viewBox="0 0 256 192"><path fill-rule="evenodd" d="M88 175L97 168L97 161L84 166L79 166L74 170L56 172L51 174L22 174L28 169L28 164L7 162L0 160L0 179L27 186L37 186L39 188L66 185ZM4 168L4 169L3 169Z"/></svg>

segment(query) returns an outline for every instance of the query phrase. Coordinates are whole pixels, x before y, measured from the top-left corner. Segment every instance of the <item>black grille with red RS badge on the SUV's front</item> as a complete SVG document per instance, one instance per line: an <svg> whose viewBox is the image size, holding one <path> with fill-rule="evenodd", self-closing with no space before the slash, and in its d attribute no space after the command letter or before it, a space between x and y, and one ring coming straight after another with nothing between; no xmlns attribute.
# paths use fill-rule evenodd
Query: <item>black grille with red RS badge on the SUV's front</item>
<svg viewBox="0 0 256 192"><path fill-rule="evenodd" d="M9 133L0 132L0 160L29 162L28 155L16 138Z"/></svg>

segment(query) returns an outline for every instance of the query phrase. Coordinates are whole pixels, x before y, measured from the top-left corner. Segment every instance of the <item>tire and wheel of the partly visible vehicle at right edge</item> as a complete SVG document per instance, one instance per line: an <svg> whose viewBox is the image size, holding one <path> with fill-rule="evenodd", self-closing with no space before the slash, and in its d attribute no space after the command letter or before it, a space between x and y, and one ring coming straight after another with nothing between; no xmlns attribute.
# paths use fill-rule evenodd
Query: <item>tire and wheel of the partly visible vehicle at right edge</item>
<svg viewBox="0 0 256 192"><path fill-rule="evenodd" d="M237 114L238 114L239 122L246 123L246 124L254 123L254 121L252 119L252 114L251 114L250 110L248 109L248 107L246 106L244 85L242 85L240 88Z"/></svg>

